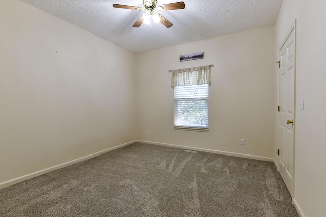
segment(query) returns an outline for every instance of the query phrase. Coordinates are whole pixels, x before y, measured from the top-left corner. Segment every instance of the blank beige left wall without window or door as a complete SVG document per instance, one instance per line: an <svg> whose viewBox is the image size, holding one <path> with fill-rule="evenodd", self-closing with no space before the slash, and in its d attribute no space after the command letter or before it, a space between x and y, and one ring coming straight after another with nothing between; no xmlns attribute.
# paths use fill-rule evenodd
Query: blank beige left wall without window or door
<svg viewBox="0 0 326 217"><path fill-rule="evenodd" d="M18 0L0 20L0 185L136 139L135 54Z"/></svg>

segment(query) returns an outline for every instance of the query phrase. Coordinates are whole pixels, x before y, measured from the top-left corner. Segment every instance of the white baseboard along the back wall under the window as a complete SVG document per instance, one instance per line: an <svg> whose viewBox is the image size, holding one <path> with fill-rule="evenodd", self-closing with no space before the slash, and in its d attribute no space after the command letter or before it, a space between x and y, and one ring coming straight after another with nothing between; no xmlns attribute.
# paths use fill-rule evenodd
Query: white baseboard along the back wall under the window
<svg viewBox="0 0 326 217"><path fill-rule="evenodd" d="M167 143L160 143L160 142L150 142L150 141L143 141L143 140L137 140L137 142L147 143L147 144L152 144L152 145L162 145L162 146L168 146L168 147L174 147L174 148L205 151L205 152L210 152L210 153L218 153L218 154L223 154L223 155L227 155L227 156L234 156L234 157L240 157L240 158L249 158L249 159L255 159L255 160L274 162L273 158L256 156L256 155L251 155L251 154L234 153L234 152L228 152L228 151L219 151L219 150L197 148L197 147L189 147L189 146L183 146L183 145L174 145L174 144L167 144Z"/></svg>

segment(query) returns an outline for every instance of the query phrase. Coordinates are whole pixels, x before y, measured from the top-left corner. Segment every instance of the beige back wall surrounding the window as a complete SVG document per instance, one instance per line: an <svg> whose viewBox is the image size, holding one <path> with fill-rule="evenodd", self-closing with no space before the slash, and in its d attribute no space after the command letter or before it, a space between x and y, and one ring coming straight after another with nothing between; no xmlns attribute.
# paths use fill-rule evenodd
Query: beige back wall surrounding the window
<svg viewBox="0 0 326 217"><path fill-rule="evenodd" d="M273 157L274 26L137 55L137 138L152 143ZM179 56L204 52L204 59ZM209 132L174 130L168 70L214 64ZM149 130L149 135L146 135ZM246 145L240 145L246 139Z"/></svg>

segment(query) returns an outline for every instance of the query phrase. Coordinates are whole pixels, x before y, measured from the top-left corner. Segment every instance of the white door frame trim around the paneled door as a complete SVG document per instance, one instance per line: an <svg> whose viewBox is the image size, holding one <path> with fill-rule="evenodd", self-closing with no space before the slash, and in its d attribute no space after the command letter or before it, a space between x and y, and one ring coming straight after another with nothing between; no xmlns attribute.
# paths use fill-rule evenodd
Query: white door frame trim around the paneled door
<svg viewBox="0 0 326 217"><path fill-rule="evenodd" d="M292 25L291 25L291 27L290 27L290 29L288 30L288 32L287 32L287 34L286 34L286 36L285 36L285 38L283 39L283 41L282 41L282 43L281 43L281 45L279 46L279 49L278 49L278 55L279 55L279 61L280 61L280 51L281 51L281 49L282 49L282 47L284 46L284 44L285 44L285 42L286 42L286 40L289 38L289 36L290 36L290 34L292 33L292 32L294 32L294 38L295 38L295 44L294 44L294 46L295 46L295 52L294 52L294 114L293 114L293 117L294 117L294 129L293 129L293 178L292 178L292 203L293 203L293 199L294 199L294 194L295 194L295 191L294 191L294 189L295 189L295 129L296 129L296 49L297 49L297 47L296 47L296 40L297 40L297 38L296 38L296 22L297 22L297 20L295 19L294 20L294 22L292 23ZM279 92L279 94L278 94L278 104L280 105L280 94L281 94L281 92L280 92L280 72L281 72L281 70L280 70L280 68L279 68L279 70L278 70L278 82L279 82L279 89L278 89L278 92ZM278 148L277 149L280 149L280 123L279 123L279 116L280 116L280 113L278 113L278 125L277 125L277 134L278 134L278 141L277 141L277 145L278 145ZM280 157L278 156L278 160L277 160L277 170L279 171L280 170Z"/></svg>

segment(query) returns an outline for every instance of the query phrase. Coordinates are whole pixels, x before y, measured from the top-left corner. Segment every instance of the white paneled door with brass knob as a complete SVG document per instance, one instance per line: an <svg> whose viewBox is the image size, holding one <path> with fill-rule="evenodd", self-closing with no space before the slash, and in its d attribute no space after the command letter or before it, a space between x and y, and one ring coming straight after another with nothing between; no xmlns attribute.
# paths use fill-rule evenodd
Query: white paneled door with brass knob
<svg viewBox="0 0 326 217"><path fill-rule="evenodd" d="M293 198L294 162L294 101L295 101L295 23L279 50L280 112L279 171Z"/></svg>

